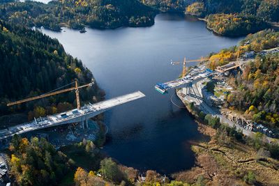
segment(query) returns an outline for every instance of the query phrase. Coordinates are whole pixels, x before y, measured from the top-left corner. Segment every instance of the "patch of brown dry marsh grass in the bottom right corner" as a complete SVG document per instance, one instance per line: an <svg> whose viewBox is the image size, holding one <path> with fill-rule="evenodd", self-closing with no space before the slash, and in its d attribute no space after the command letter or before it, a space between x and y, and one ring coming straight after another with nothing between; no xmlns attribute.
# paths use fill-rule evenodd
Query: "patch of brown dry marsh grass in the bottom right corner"
<svg viewBox="0 0 279 186"><path fill-rule="evenodd" d="M203 176L206 185L246 185L243 177L252 171L257 183L279 185L279 162L271 158L257 160L257 151L250 146L231 141L231 146L209 143L193 145L197 154L196 164L190 171L175 173L176 180L195 183L198 176Z"/></svg>

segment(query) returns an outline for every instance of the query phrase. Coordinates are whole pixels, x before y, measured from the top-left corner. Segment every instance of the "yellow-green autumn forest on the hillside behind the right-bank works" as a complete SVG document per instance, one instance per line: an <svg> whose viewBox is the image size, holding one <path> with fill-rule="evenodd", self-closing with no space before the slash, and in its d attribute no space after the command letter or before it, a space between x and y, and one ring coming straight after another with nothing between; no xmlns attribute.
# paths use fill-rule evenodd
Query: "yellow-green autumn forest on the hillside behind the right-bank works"
<svg viewBox="0 0 279 186"><path fill-rule="evenodd" d="M271 128L279 127L279 53L261 53L264 49L279 46L279 32L271 29L248 35L239 47L223 49L209 58L209 67L225 65L236 60L238 51L257 52L255 61L250 61L243 73L229 77L235 91L227 95L227 107L243 111L257 123Z"/></svg>

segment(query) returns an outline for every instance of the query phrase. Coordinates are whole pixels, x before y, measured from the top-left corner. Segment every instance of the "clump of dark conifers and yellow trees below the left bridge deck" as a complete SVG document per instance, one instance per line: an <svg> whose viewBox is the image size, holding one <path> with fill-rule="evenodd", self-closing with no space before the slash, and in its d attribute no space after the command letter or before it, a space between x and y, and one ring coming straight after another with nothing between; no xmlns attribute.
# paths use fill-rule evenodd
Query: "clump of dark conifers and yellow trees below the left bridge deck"
<svg viewBox="0 0 279 186"><path fill-rule="evenodd" d="M13 137L10 174L17 185L57 185L69 171L68 158L46 139Z"/></svg>

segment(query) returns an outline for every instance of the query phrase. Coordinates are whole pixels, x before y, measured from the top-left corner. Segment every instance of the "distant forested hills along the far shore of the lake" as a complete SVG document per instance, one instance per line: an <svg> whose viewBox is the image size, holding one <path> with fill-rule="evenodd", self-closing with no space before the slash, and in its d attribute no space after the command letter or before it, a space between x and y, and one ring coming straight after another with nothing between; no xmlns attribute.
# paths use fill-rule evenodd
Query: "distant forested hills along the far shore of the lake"
<svg viewBox="0 0 279 186"><path fill-rule="evenodd" d="M151 26L159 12L205 17L207 27L224 36L243 36L279 22L279 0L59 0L44 4L12 1L0 4L2 20L60 31L61 26L106 29Z"/></svg>

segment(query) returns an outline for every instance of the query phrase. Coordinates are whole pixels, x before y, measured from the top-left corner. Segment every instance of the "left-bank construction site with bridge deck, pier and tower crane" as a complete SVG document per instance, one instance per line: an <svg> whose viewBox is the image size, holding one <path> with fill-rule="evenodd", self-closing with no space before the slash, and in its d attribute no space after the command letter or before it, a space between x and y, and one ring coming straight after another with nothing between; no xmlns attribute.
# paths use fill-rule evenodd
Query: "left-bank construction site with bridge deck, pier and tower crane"
<svg viewBox="0 0 279 186"><path fill-rule="evenodd" d="M94 104L91 104L90 102L88 104L84 104L83 106L80 105L80 95L79 95L79 89L88 87L88 86L93 86L93 82L89 84L84 84L82 86L78 86L77 80L75 80L75 86L71 88L66 88L66 89L61 89L59 91L51 91L49 93L45 93L43 95L38 95L36 97L32 98L27 98L24 100L18 100L15 102L10 102L7 104L7 106L13 106L16 104L22 104L24 102L29 102L33 100L38 100L41 98L47 98L52 95L56 95L59 93L66 93L68 91L75 91L76 95L76 102L77 102L77 108L76 109L71 109L68 111L64 111L59 114L54 114L51 116L40 116L39 118L34 118L33 121L27 122L27 123L22 123L20 125L15 125L13 127L7 127L6 129L0 130L0 141L1 141L1 146L5 147L6 144L8 144L8 141L10 141L11 137L15 134L25 134L27 132L33 132L36 130L42 130L50 127L59 127L62 125L68 125L68 124L75 124L75 126L79 126L82 129L88 129L91 128L93 131L98 130L98 125L91 121L90 119L93 118L94 116L97 116L98 114L103 113L104 111L107 111L108 109L112 109L113 107L116 107L117 105L120 104L125 104L127 102L131 102L133 100L137 100L140 98L144 98L145 95L140 92L136 91L134 93L128 93L126 95L121 95L116 98L112 98L109 100L105 100L102 102L97 102ZM64 86L63 86L64 87ZM91 126L91 127L90 127ZM54 131L56 131L54 129ZM66 135L66 139L68 141L73 141L75 138L75 135L73 135L74 132L70 131ZM45 133L43 133L45 134ZM91 135L91 136L90 136ZM96 134L94 132L89 134L87 136L89 139L96 139Z"/></svg>

